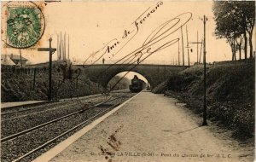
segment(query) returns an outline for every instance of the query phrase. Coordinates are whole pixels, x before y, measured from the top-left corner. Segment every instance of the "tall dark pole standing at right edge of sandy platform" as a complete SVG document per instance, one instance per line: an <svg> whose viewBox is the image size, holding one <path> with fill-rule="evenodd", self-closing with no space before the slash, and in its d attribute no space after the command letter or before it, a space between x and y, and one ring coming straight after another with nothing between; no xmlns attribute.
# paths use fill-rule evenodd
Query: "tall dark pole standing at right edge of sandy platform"
<svg viewBox="0 0 256 162"><path fill-rule="evenodd" d="M206 22L207 18L204 15L204 111L203 111L203 123L207 125L207 49L206 49Z"/></svg>

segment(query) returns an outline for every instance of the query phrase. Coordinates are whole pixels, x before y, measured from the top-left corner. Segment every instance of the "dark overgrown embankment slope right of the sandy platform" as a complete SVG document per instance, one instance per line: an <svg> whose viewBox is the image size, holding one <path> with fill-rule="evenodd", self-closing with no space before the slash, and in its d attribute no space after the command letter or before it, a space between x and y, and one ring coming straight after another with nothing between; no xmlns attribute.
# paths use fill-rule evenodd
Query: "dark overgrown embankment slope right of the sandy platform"
<svg viewBox="0 0 256 162"><path fill-rule="evenodd" d="M207 118L240 140L254 136L254 83L254 59L207 66ZM153 91L171 95L202 115L203 66L185 69Z"/></svg>

